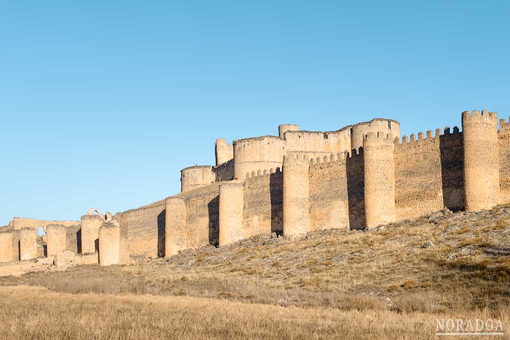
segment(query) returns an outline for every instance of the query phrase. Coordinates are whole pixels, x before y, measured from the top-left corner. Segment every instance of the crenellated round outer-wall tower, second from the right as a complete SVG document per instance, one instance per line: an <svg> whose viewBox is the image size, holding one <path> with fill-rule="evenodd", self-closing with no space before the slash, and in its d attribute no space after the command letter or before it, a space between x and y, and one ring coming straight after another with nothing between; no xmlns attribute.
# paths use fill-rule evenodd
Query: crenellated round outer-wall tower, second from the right
<svg viewBox="0 0 510 340"><path fill-rule="evenodd" d="M365 224L373 228L395 221L394 139L386 132L369 132L363 140Z"/></svg>

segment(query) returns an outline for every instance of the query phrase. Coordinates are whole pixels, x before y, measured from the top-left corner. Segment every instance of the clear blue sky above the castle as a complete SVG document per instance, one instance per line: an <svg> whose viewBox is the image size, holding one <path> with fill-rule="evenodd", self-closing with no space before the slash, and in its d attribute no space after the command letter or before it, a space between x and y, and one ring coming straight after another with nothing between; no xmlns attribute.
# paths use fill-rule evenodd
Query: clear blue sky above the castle
<svg viewBox="0 0 510 340"><path fill-rule="evenodd" d="M510 114L508 2L4 1L0 225L179 192L214 140Z"/></svg>

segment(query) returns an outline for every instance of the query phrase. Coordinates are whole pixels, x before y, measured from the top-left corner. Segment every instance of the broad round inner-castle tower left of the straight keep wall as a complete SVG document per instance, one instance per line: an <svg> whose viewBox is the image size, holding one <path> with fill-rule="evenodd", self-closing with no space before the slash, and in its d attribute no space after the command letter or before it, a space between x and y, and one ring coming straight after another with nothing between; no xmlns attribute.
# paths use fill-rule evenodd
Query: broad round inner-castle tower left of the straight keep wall
<svg viewBox="0 0 510 340"><path fill-rule="evenodd" d="M285 149L285 139L275 136L235 140L234 178L244 179L247 173L282 168Z"/></svg>

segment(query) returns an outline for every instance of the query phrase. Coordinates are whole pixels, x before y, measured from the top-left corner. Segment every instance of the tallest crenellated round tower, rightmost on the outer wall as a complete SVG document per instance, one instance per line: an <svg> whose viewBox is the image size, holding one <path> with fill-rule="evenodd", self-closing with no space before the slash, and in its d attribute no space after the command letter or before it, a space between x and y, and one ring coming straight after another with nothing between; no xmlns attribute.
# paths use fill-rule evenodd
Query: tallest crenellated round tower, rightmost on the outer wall
<svg viewBox="0 0 510 340"><path fill-rule="evenodd" d="M499 196L497 112L463 112L462 134L466 211L490 209Z"/></svg>

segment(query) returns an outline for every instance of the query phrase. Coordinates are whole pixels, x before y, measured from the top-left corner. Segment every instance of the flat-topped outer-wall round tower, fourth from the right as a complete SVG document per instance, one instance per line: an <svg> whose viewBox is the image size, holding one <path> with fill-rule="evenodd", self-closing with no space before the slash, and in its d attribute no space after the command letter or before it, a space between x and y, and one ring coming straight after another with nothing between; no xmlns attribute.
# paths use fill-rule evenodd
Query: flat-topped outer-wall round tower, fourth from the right
<svg viewBox="0 0 510 340"><path fill-rule="evenodd" d="M243 233L243 183L224 183L219 187L219 245L237 242Z"/></svg>

